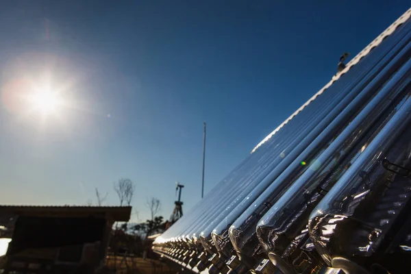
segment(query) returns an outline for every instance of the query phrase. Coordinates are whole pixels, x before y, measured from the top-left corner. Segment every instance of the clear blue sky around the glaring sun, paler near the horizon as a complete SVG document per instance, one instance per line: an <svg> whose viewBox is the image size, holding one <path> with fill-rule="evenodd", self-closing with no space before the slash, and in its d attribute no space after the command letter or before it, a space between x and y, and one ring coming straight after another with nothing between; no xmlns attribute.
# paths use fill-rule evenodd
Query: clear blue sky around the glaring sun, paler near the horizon
<svg viewBox="0 0 411 274"><path fill-rule="evenodd" d="M95 203L136 184L169 218L184 210L409 1L0 1L0 203ZM51 83L47 116L19 101ZM133 220L136 221L134 214Z"/></svg>

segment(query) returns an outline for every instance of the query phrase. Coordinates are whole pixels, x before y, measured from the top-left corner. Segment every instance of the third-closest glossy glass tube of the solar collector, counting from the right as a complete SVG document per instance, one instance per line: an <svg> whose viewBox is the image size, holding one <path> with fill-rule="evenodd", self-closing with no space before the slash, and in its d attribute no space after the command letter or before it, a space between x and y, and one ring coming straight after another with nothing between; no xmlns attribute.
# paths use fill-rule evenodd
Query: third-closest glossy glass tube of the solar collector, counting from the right
<svg viewBox="0 0 411 274"><path fill-rule="evenodd" d="M306 183L310 177L314 174L319 174L319 167L326 162L327 158L332 156L333 151L337 151L346 140L347 137L357 130L358 132L362 132L362 125L363 120L366 118L367 115L373 110L375 103L384 99L384 96L387 96L390 92L390 88L393 84L396 84L400 77L396 76L392 81L390 81L390 85L387 85L384 90L380 91L375 98L375 102L371 101L369 105L366 105L366 111L362 112L360 116L358 116L354 121L356 123L352 123L353 121L347 120L349 116L352 116L358 108L361 108L364 105L364 100L373 96L376 93L375 90L382 84L382 82L386 81L390 77L390 73L393 73L395 69L398 68L399 64L403 62L404 58L409 55L411 45L408 45L404 48L397 57L390 62L388 66L386 66L378 75L374 77L373 74L371 79L373 79L364 89L361 90L360 95L358 95L347 108L340 110L340 108L336 108L338 116L336 119L332 120L331 123L327 123L327 127L321 130L321 134L316 138L313 142L310 142L306 149L299 154L299 157L289 164L287 169L275 179L273 184L271 184L268 188L265 188L264 193L258 197L256 201L252 203L252 205L245 210L242 215L236 220L236 222L230 228L230 238L236 247L238 252L242 251L242 248L245 245L245 242L249 240L253 234L255 234L255 225L260 219L259 217L262 216L271 207L277 199L279 199L283 194L284 191L290 184L297 182L297 186L295 186L294 190L304 190L304 188L300 188L299 184ZM401 76L404 75L408 71L408 67L403 70ZM399 75L399 73L397 74ZM372 119L371 119L372 121ZM341 127L343 125L349 126L349 129L346 129L345 134L343 136L339 136L336 138L336 132L341 132ZM354 138L355 139L355 138ZM318 151L321 151L322 147L327 147L327 154L323 154L323 158L316 160L319 157ZM341 156L344 155L343 151ZM331 158L332 159L332 158ZM301 166L301 162L309 162L312 160L313 164L310 165L310 169L306 169L304 166ZM316 162L315 162L316 161ZM314 169L314 167L316 167ZM303 173L301 173L303 172ZM292 179L294 178L294 179ZM310 184L308 182L307 184ZM289 199L290 196L282 198L282 201L286 201ZM271 206L270 206L271 205ZM239 209L238 211L244 210L243 208ZM273 212L277 212L278 207L273 207ZM288 208L287 208L288 210ZM233 212L231 213L233 214ZM283 215L284 212L279 211L279 215ZM253 219L253 221L251 221ZM288 220L290 221L290 220ZM251 247L247 247L248 250L253 250Z"/></svg>

